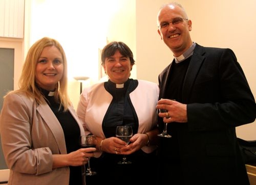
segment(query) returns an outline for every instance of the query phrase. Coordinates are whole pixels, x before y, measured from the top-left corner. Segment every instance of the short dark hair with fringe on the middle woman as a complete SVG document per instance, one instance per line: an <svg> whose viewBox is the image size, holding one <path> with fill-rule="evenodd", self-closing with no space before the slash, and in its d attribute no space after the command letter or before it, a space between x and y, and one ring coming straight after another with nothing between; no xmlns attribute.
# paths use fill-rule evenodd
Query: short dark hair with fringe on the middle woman
<svg viewBox="0 0 256 185"><path fill-rule="evenodd" d="M105 64L105 59L113 56L118 50L120 54L122 54L125 57L129 57L131 64L135 64L135 60L133 58L132 50L124 44L124 42L110 42L108 43L101 52L101 65Z"/></svg>

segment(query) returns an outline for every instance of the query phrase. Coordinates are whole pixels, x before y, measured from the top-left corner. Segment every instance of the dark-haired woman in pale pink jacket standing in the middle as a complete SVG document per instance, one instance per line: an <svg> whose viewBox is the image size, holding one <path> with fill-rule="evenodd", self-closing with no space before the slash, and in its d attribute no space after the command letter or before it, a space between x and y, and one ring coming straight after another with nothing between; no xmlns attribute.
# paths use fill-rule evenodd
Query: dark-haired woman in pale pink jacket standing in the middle
<svg viewBox="0 0 256 185"><path fill-rule="evenodd" d="M110 42L101 55L107 82L85 88L77 114L85 131L97 136L98 153L91 159L97 172L86 177L87 185L154 184L156 167L158 85L129 78L135 63L132 51L123 42ZM131 125L130 143L116 136L118 125ZM118 164L126 155L131 164Z"/></svg>

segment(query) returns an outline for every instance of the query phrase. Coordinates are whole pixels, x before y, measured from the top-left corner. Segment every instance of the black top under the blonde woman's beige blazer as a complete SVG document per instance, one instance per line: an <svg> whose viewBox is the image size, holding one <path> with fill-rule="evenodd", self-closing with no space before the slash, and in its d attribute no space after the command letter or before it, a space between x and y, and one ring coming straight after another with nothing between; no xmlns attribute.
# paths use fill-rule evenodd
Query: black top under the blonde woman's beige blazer
<svg viewBox="0 0 256 185"><path fill-rule="evenodd" d="M49 96L49 91L40 89L44 95L46 102L52 109L56 118L62 126L67 153L76 151L80 149L79 138L80 138L80 128L78 123L71 115L69 111L64 111L64 107L60 107L60 103L57 103L54 96ZM82 171L80 166L69 166L70 167L70 180L69 185L82 185Z"/></svg>

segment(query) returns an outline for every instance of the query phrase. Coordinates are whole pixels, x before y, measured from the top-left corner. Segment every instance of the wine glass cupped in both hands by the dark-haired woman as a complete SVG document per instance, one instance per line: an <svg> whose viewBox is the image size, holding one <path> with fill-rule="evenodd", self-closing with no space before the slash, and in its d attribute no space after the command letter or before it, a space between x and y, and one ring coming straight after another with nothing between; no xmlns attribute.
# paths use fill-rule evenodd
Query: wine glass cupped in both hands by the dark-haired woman
<svg viewBox="0 0 256 185"><path fill-rule="evenodd" d="M125 141L128 145L130 138L132 137L132 127L128 125L117 126L116 127L116 137ZM122 161L119 161L118 164L131 164L131 161L127 161L126 156L123 156Z"/></svg>

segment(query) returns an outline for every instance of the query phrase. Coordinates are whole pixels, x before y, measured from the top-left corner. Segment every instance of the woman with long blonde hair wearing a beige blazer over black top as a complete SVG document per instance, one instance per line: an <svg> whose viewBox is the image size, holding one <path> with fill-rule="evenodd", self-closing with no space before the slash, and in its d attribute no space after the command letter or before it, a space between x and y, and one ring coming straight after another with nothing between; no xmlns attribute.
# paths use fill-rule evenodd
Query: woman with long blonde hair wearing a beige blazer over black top
<svg viewBox="0 0 256 185"><path fill-rule="evenodd" d="M4 97L0 115L8 185L82 184L81 165L96 149L80 149L84 129L68 98L67 61L58 41L45 37L33 44L19 87Z"/></svg>

